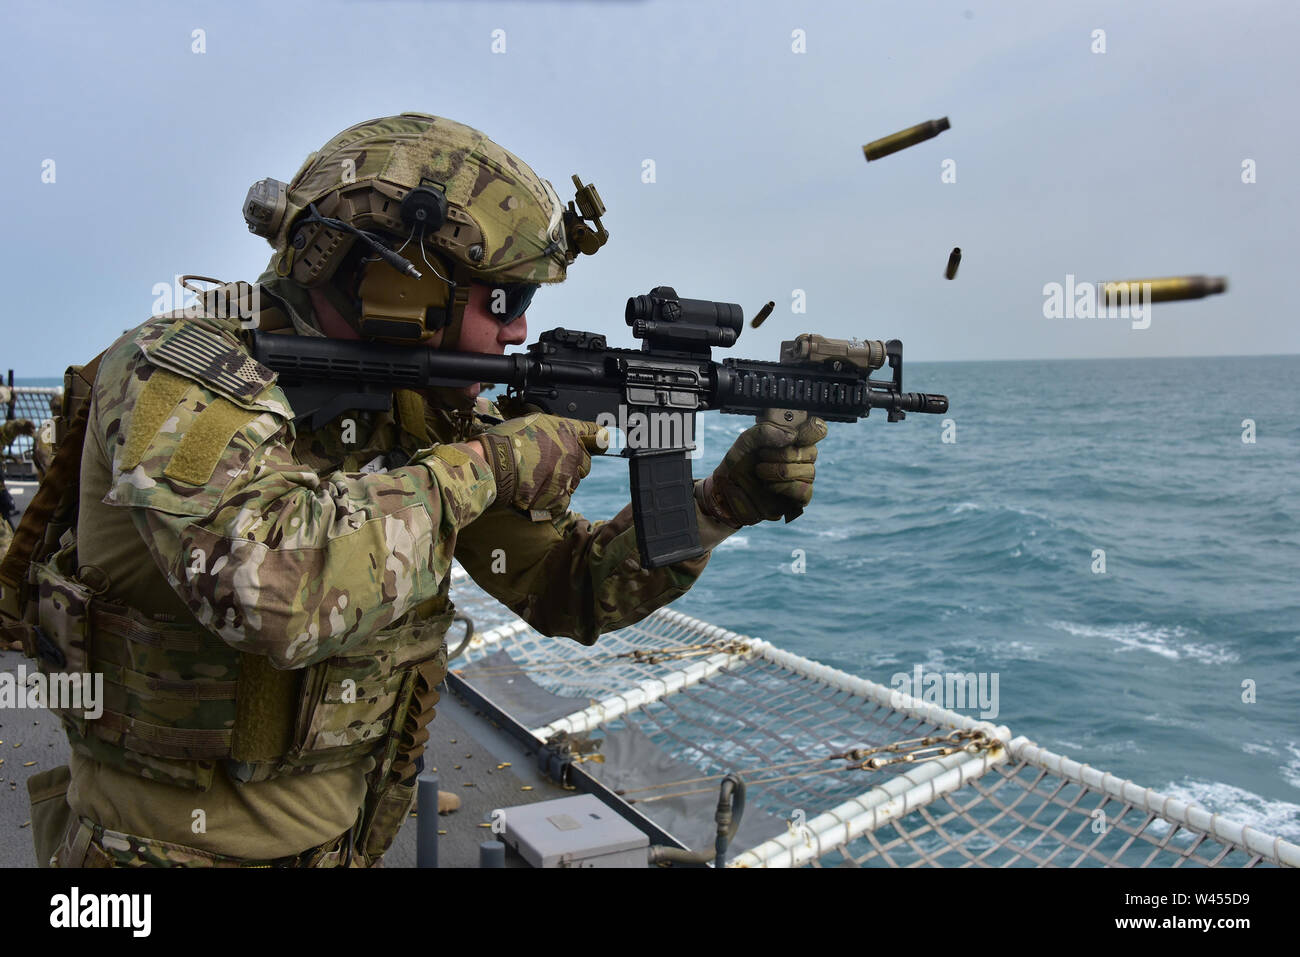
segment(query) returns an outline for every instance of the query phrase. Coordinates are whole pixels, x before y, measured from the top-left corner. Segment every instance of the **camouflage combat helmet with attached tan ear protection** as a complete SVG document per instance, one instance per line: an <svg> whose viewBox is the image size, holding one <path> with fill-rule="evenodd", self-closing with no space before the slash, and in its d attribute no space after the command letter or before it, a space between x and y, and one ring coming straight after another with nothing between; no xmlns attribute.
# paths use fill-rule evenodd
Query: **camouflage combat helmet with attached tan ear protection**
<svg viewBox="0 0 1300 957"><path fill-rule="evenodd" d="M330 282L360 242L377 257L361 282L361 332L420 339L459 330L471 282L526 306L537 283L562 282L578 252L604 244L599 195L573 183L577 208L566 208L478 130L402 113L339 133L291 183L256 183L244 220L274 247L276 274L306 287Z"/></svg>

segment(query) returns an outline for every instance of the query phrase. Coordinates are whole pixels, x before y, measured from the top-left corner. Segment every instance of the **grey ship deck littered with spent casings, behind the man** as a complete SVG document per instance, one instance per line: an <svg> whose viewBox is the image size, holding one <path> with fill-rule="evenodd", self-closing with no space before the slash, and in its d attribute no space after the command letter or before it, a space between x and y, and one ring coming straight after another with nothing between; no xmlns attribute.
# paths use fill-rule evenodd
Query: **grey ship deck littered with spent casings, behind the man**
<svg viewBox="0 0 1300 957"><path fill-rule="evenodd" d="M0 651L0 671L16 672L20 664L29 674L34 663L18 651ZM31 809L27 779L51 767L68 763L68 739L58 719L49 711L0 710L0 867L35 867L31 845ZM34 761L31 767L23 767ZM508 767L499 767L507 763ZM459 765L459 767L458 767ZM442 867L477 867L478 845L493 840L480 823L491 820L493 810L512 805L550 801L573 792L543 778L533 755L504 732L480 716L471 706L446 689L438 714L430 726L426 768L438 768L439 787L456 793L460 810L439 817L438 863ZM530 785L532 791L523 791ZM385 867L415 867L415 817L398 833L384 858ZM506 866L526 866L507 852Z"/></svg>

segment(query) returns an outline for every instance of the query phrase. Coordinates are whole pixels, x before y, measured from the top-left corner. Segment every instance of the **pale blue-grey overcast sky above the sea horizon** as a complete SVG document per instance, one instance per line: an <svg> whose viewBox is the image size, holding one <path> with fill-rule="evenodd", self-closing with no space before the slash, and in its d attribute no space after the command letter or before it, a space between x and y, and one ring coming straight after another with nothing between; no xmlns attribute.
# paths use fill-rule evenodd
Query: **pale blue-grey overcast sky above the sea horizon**
<svg viewBox="0 0 1300 957"><path fill-rule="evenodd" d="M612 238L538 294L534 333L630 345L624 300L668 283L746 315L775 299L732 350L754 358L800 332L898 337L913 360L1300 352L1297 10L9 0L0 368L84 361L177 273L254 278L269 247L247 187L402 111L477 126L566 200L575 172L598 186ZM939 138L863 160L941 116ZM1148 329L1044 317L1066 274L1183 273L1230 289Z"/></svg>

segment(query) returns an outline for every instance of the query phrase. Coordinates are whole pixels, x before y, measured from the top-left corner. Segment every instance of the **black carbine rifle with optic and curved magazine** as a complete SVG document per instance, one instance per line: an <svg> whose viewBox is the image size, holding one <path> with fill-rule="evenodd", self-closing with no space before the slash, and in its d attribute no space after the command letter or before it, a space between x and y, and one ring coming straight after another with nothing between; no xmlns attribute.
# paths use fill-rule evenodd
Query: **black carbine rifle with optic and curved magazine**
<svg viewBox="0 0 1300 957"><path fill-rule="evenodd" d="M754 415L796 429L814 415L852 423L872 408L894 423L906 412L948 411L946 395L902 390L898 339L828 339L805 334L781 343L775 363L712 360L736 343L744 315L736 303L682 299L668 286L628 299L624 317L641 348L611 348L603 335L550 329L524 354L442 352L303 335L252 333L252 355L278 376L296 415L317 429L346 411L387 411L396 389L507 386L549 415L606 424L680 417L681 428L644 429L629 442L632 510L644 568L703 554L690 475L697 412ZM885 363L888 380L871 378ZM621 412L621 415L620 415ZM636 447L632 447L632 446ZM796 506L785 520L800 514Z"/></svg>

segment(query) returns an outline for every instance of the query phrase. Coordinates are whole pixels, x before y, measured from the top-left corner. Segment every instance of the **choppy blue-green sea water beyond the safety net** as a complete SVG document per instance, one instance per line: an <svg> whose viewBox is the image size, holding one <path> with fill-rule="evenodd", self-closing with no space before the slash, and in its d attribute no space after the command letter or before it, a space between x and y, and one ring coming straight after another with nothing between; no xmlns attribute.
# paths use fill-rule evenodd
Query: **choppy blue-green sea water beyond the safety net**
<svg viewBox="0 0 1300 957"><path fill-rule="evenodd" d="M954 442L944 416L832 423L807 511L724 542L673 607L883 684L996 674L1014 735L1300 840L1300 356L905 384L950 397ZM701 420L697 477L751 424ZM573 507L627 501L598 460Z"/></svg>

